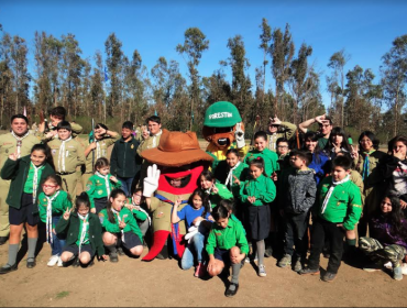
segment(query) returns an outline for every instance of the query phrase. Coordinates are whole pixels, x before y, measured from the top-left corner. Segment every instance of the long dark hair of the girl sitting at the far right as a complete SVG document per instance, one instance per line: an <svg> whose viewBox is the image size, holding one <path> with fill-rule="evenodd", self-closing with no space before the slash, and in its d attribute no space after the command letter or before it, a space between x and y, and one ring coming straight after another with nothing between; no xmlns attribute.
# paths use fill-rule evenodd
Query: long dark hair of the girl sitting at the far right
<svg viewBox="0 0 407 308"><path fill-rule="evenodd" d="M396 195L385 195L382 199L382 202L385 198L388 198L392 202L392 211L386 216L389 220L387 221L391 224L391 233L393 235L400 235L403 239L407 238L407 230L404 227L403 220L405 219L403 209L400 206L400 199ZM375 217L378 218L383 216L381 205L376 208Z"/></svg>

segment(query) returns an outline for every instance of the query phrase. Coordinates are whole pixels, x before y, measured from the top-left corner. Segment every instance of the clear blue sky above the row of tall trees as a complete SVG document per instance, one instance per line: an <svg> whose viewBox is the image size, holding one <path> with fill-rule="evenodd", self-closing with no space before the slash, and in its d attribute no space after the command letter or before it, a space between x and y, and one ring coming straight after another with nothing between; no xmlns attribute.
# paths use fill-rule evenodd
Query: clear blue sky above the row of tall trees
<svg viewBox="0 0 407 308"><path fill-rule="evenodd" d="M329 74L329 57L342 48L351 56L346 70L356 64L372 68L378 76L381 57L389 51L395 37L407 34L407 1L21 1L0 3L0 23L11 35L24 37L31 51L35 31L61 37L73 33L82 50L82 57L92 57L97 50L105 56L105 41L114 32L123 52L131 57L138 50L148 70L158 57L175 59L186 72L183 57L175 47L184 42L184 32L199 28L210 41L198 67L201 76L210 76L229 57L228 38L243 36L249 73L254 85L255 67L263 62L260 45L262 18L272 30L289 23L296 52L301 43L314 48L311 62L318 72ZM266 84L274 88L267 70ZM230 72L226 69L226 73ZM184 74L187 77L186 74ZM377 78L378 79L378 78ZM321 92L328 103L324 76Z"/></svg>

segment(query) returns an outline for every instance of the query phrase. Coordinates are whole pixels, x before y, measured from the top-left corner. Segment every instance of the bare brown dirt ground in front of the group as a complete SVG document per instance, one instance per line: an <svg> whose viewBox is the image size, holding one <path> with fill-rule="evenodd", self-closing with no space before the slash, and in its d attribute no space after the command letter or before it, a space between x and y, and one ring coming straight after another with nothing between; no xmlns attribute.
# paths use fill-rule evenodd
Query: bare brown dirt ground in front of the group
<svg viewBox="0 0 407 308"><path fill-rule="evenodd" d="M0 246L0 263L7 262L8 245ZM256 275L246 264L234 298L224 297L219 277L195 278L194 270L183 271L176 260L151 263L121 256L119 263L96 262L89 268L47 267L47 244L36 267L0 276L0 306L406 306L407 278L393 280L388 273L366 273L342 263L338 278L323 283L317 276L299 276L266 258L267 277ZM327 261L322 258L324 268Z"/></svg>

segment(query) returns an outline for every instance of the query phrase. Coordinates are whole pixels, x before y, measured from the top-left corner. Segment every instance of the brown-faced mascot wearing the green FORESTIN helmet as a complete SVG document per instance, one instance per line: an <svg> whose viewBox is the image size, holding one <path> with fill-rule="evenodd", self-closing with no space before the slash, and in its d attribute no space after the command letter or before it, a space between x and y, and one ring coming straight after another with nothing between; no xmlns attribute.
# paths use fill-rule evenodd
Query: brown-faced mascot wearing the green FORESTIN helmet
<svg viewBox="0 0 407 308"><path fill-rule="evenodd" d="M213 157L212 170L227 158L229 148L237 148L243 158L248 154L244 125L238 108L229 101L212 103L205 112L204 138L209 142L207 152Z"/></svg>

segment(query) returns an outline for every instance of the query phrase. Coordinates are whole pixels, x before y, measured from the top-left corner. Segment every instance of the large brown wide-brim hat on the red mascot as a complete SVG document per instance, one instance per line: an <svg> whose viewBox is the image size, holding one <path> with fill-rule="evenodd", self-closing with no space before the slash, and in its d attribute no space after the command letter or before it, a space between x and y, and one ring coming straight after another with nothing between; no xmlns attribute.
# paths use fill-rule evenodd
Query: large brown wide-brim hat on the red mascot
<svg viewBox="0 0 407 308"><path fill-rule="evenodd" d="M145 150L141 155L151 163L168 167L213 161L212 156L200 150L197 134L189 131L183 133L163 130L158 146Z"/></svg>

